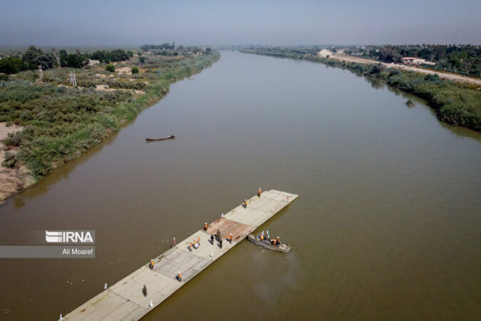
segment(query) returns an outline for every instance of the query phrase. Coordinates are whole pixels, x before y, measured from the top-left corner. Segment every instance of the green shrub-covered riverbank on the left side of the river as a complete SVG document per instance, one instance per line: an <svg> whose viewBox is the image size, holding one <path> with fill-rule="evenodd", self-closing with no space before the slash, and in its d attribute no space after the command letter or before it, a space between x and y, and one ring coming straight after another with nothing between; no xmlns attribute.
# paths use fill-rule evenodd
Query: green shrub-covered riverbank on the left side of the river
<svg viewBox="0 0 481 321"><path fill-rule="evenodd" d="M4 191L0 203L79 157L165 96L171 83L202 71L218 58L218 52L151 55L144 62L134 56L117 63L113 73L103 64L75 69L75 87L69 83L68 68L44 71L42 81L35 71L0 81L0 121L6 128L14 124L24 128L3 140L1 171L9 179L0 180ZM133 67L138 73L124 72ZM12 181L15 188L7 188Z"/></svg>

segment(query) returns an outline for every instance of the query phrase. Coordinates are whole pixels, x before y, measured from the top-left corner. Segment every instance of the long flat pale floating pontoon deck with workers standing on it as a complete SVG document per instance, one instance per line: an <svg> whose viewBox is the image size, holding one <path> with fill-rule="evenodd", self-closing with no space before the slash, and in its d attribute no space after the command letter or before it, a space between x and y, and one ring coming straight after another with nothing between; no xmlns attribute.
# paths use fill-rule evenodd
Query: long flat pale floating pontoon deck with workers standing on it
<svg viewBox="0 0 481 321"><path fill-rule="evenodd" d="M139 320L296 198L298 195L279 190L268 190L260 197L255 195L248 200L247 208L239 205L208 225L207 232L198 230L159 255L154 259L153 270L146 263L77 307L64 320ZM216 241L215 246L209 243L211 234L215 235L217 230L221 230L222 248ZM231 233L233 242L229 243L226 238ZM198 238L201 246L189 251L189 243ZM178 271L182 272L182 282L176 279ZM144 284L147 297L142 294ZM151 301L153 307L149 306Z"/></svg>

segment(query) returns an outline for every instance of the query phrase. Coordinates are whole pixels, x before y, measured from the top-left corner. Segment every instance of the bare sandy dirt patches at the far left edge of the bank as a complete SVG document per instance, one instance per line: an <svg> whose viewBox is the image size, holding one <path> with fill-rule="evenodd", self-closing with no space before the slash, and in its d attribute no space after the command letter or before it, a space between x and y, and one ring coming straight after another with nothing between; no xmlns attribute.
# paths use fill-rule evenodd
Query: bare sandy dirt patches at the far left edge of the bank
<svg viewBox="0 0 481 321"><path fill-rule="evenodd" d="M0 123L0 204L4 203L6 198L18 193L27 186L34 183L24 166L15 166L14 168L6 168L1 166L5 159L5 152L16 153L16 148L5 146L3 140L9 136L9 133L22 131L21 126L6 126L6 123Z"/></svg>

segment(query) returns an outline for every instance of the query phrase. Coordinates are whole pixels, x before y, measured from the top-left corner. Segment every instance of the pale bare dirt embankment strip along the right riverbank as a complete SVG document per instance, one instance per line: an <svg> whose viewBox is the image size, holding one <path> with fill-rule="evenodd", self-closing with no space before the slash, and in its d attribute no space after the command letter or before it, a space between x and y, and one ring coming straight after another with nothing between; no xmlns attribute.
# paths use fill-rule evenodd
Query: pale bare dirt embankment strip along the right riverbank
<svg viewBox="0 0 481 321"><path fill-rule="evenodd" d="M333 58L340 61L353 62L353 63L380 63L380 61L375 61L375 60L366 59L366 58L358 58L353 56L332 55L332 56L329 56L329 58ZM386 68L399 68L402 70L416 71L417 73L427 73L432 75L437 73L437 76L440 76L440 78L442 79L449 79L452 81L456 81L458 83L470 83L475 86L481 86L481 79L457 75L455 73L444 73L442 71L432 71L425 68L417 68L415 66L401 65L399 63L382 63L382 64L386 66Z"/></svg>

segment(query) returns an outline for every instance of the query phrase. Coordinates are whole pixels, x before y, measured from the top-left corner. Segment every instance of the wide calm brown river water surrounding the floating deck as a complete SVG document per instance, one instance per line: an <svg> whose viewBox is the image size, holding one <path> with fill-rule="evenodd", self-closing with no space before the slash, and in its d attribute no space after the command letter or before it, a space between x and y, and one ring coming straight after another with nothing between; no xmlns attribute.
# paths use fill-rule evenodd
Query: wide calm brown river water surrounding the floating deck
<svg viewBox="0 0 481 321"><path fill-rule="evenodd" d="M193 78L0 207L0 245L96 230L95 259L0 259L0 320L66 315L258 187L300 195L258 229L290 253L244 240L144 320L479 320L480 133L322 64Z"/></svg>

